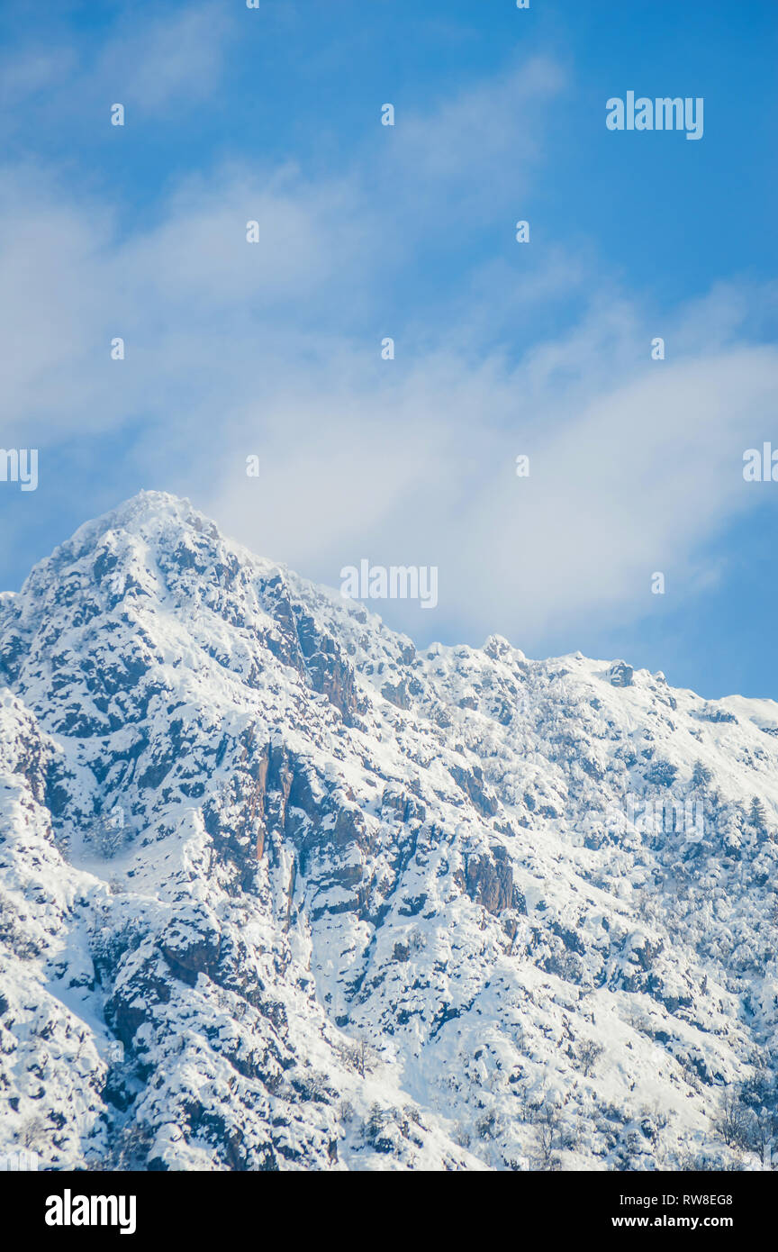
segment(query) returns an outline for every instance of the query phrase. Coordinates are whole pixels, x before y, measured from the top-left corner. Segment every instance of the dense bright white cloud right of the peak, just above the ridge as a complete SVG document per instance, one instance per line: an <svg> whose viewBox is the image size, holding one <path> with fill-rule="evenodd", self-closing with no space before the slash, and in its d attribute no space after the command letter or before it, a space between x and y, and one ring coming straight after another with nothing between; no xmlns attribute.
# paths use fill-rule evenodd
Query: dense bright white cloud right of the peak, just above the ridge
<svg viewBox="0 0 778 1252"><path fill-rule="evenodd" d="M583 363L582 338L568 354L554 346L544 382L532 363L473 371L439 357L393 393L363 377L341 396L331 377L326 401L280 399L269 422L246 413L208 507L330 583L363 556L438 565L445 632L473 641L499 629L532 650L577 621L629 621L649 611L655 570L690 592L700 546L759 502L742 452L770 429L778 352L733 344L647 366L643 341L603 386L608 352ZM555 381L565 366L574 386ZM241 478L244 451L260 453L258 480ZM522 452L529 478L515 476ZM444 630L403 606L385 616Z"/></svg>

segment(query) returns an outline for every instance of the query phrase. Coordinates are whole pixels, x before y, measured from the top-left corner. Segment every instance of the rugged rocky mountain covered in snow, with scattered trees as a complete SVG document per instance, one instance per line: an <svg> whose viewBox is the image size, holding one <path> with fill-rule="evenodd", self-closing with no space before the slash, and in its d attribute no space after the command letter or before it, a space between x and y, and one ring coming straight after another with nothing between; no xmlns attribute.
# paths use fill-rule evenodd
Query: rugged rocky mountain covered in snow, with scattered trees
<svg viewBox="0 0 778 1252"><path fill-rule="evenodd" d="M772 701L419 652L144 493L0 597L0 1152L759 1168L777 766Z"/></svg>

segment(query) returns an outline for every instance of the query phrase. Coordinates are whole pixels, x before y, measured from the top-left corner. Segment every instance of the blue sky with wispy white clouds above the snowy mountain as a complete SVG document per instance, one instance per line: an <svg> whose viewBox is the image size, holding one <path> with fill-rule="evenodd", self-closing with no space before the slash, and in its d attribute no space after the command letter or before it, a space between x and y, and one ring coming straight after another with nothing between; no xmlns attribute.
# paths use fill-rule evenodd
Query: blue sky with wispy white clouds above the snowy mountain
<svg viewBox="0 0 778 1252"><path fill-rule="evenodd" d="M420 644L778 697L772 0L6 3L0 45L3 443L40 448L0 585L156 487L333 586L438 565L383 606ZM628 90L703 138L609 131Z"/></svg>

